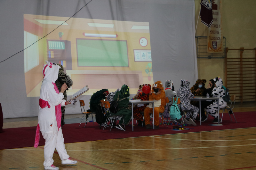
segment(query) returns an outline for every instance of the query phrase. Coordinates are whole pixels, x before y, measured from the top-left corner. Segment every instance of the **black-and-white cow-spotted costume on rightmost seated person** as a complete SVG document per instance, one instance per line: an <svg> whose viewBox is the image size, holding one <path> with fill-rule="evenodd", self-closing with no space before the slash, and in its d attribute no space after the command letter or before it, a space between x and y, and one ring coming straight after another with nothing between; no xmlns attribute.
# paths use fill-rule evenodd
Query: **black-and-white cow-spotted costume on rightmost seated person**
<svg viewBox="0 0 256 170"><path fill-rule="evenodd" d="M222 79L216 77L213 80L217 87L213 88L212 97L221 97L221 99L219 99L219 108L224 108L227 106L227 102L222 99L222 97L226 95L225 89L222 87ZM210 106L207 106L205 109L206 112L212 115L214 118L218 117L218 101L213 102Z"/></svg>

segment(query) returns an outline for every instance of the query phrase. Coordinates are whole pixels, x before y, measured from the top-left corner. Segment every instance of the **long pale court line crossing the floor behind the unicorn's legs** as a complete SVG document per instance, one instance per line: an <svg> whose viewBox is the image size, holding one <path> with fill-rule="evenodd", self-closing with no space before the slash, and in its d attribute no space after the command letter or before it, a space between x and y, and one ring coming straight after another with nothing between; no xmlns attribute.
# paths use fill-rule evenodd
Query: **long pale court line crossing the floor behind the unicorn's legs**
<svg viewBox="0 0 256 170"><path fill-rule="evenodd" d="M172 150L172 149L201 149L201 148L219 148L219 147L234 147L234 146L251 146L256 144L242 144L242 145L229 145L229 146L206 146L206 147L193 147L193 148L160 148L160 149L94 149L94 150L67 150L67 151L141 151L141 150ZM6 149L6 150L21 150L21 151L44 151L39 149Z"/></svg>

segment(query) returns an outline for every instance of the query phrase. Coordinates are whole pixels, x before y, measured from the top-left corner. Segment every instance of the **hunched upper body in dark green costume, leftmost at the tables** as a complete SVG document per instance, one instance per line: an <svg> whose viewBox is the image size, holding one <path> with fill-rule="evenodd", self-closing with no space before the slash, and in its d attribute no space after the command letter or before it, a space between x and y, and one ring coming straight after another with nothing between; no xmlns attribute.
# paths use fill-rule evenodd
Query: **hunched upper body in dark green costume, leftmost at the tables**
<svg viewBox="0 0 256 170"><path fill-rule="evenodd" d="M90 110L87 110L87 112L95 112L96 108L99 106L100 100L105 99L108 94L108 89L102 89L94 93L90 101Z"/></svg>

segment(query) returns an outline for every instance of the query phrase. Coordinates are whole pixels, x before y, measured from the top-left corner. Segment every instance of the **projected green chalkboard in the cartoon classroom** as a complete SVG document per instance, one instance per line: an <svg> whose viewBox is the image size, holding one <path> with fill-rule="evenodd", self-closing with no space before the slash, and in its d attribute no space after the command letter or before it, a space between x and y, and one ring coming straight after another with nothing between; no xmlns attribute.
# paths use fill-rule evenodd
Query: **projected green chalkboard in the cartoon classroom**
<svg viewBox="0 0 256 170"><path fill-rule="evenodd" d="M76 39L78 66L129 67L127 41Z"/></svg>

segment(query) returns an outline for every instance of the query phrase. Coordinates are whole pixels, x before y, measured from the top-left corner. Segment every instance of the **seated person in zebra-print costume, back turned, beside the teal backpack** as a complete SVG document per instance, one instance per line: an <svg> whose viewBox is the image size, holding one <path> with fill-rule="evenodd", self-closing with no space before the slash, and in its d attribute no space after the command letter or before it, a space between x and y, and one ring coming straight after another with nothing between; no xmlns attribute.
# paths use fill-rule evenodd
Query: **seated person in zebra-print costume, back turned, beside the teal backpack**
<svg viewBox="0 0 256 170"><path fill-rule="evenodd" d="M186 124L193 124L196 126L195 119L198 114L199 108L189 103L189 99L193 99L194 95L189 89L188 80L181 80L180 88L177 91L177 96L180 98L180 108L186 111L186 118L184 122ZM192 118L190 118L192 113Z"/></svg>

